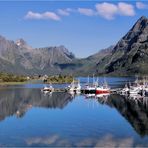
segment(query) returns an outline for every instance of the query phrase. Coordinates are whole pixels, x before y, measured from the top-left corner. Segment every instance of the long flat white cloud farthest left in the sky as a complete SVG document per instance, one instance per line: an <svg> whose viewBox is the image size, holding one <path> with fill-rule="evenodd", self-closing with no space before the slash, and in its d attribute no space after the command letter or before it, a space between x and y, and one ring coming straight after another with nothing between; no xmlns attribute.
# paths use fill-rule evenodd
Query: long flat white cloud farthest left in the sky
<svg viewBox="0 0 148 148"><path fill-rule="evenodd" d="M25 19L35 19L35 20L51 19L51 20L59 21L60 17L56 13L49 12L49 11L44 12L44 13L37 13L37 12L29 11L25 16Z"/></svg>

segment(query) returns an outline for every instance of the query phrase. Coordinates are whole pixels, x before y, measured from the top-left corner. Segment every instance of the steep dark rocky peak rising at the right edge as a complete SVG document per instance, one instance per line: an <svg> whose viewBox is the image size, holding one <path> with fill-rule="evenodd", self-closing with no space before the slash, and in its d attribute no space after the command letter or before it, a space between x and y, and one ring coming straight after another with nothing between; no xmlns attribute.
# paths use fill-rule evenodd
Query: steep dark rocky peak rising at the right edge
<svg viewBox="0 0 148 148"><path fill-rule="evenodd" d="M148 19L142 16L120 39L111 55L97 63L97 74L148 74ZM101 67L101 68L100 68Z"/></svg>

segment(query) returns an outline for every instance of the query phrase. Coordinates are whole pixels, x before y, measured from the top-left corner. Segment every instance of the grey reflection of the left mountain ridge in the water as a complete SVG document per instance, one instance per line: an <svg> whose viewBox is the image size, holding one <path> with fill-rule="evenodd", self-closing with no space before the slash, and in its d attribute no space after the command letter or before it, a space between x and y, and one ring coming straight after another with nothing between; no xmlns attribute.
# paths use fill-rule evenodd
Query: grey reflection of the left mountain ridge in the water
<svg viewBox="0 0 148 148"><path fill-rule="evenodd" d="M38 89L5 89L0 93L0 121L23 117L31 107L64 108L73 97L68 93L43 94Z"/></svg>

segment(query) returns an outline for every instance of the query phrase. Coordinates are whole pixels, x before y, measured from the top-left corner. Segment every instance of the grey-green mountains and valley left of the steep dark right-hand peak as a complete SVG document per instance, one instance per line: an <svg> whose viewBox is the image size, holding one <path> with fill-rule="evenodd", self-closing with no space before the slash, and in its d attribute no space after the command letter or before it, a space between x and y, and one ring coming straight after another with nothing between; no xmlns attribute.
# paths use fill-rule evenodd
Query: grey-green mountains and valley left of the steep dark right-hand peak
<svg viewBox="0 0 148 148"><path fill-rule="evenodd" d="M0 36L0 71L16 74L73 74L95 73L96 64L110 55L113 46L87 58L78 59L64 46L32 48L23 39L16 42Z"/></svg>

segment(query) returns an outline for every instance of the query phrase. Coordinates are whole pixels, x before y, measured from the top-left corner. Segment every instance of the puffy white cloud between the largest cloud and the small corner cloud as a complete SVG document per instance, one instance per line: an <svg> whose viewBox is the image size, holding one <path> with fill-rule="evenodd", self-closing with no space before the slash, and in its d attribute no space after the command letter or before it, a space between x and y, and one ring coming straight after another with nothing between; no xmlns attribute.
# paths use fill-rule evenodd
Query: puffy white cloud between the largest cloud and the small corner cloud
<svg viewBox="0 0 148 148"><path fill-rule="evenodd" d="M121 15L125 16L135 15L134 6L123 2L118 3L118 11L121 13Z"/></svg>

